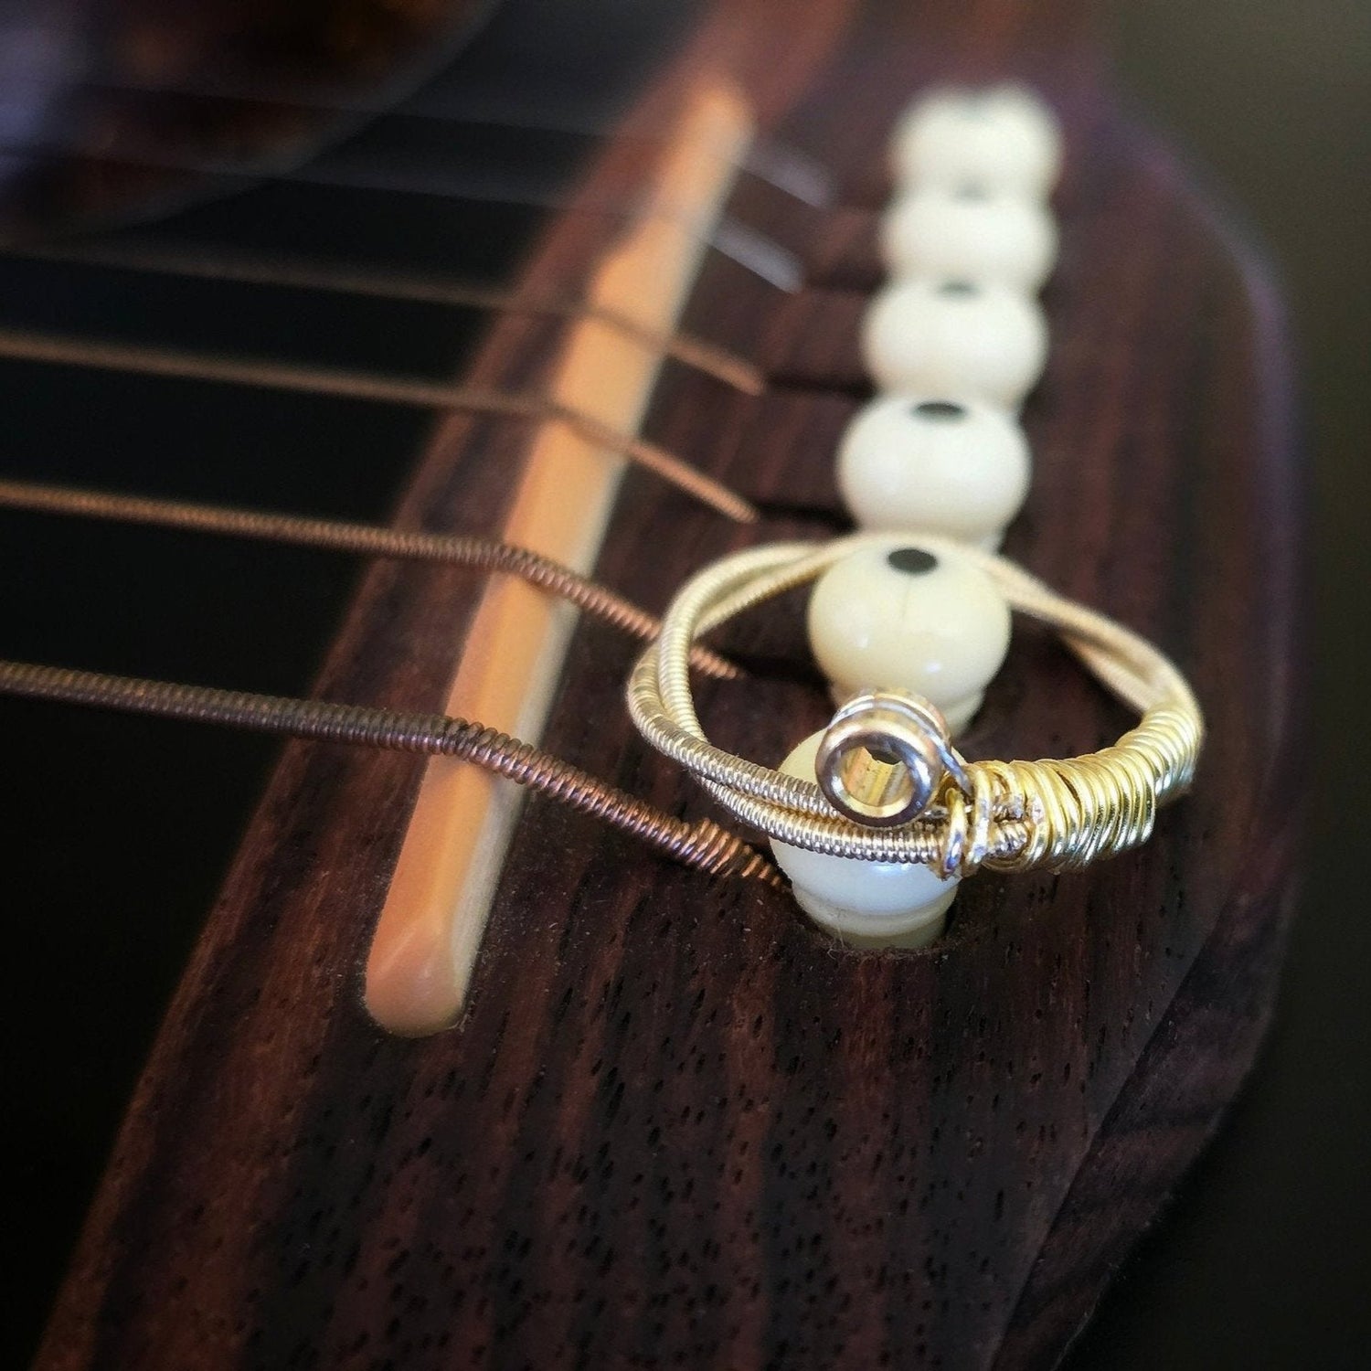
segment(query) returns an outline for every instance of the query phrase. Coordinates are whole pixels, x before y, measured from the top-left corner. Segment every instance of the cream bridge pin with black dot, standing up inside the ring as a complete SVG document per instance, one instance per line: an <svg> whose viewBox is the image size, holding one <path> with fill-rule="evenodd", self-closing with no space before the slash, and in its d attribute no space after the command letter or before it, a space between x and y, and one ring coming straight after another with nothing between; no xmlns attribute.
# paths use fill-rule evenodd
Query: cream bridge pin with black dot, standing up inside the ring
<svg viewBox="0 0 1371 1371"><path fill-rule="evenodd" d="M954 733L1009 650L1009 606L994 581L914 540L864 547L828 568L810 594L808 627L836 698L871 687L923 695Z"/></svg>

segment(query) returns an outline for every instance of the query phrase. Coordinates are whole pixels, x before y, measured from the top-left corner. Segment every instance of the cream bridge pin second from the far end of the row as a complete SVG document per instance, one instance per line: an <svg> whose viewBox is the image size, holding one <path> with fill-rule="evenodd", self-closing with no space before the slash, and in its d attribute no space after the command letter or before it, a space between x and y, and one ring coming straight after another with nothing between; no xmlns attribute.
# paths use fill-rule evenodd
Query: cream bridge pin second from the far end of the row
<svg viewBox="0 0 1371 1371"><path fill-rule="evenodd" d="M1057 262L1057 226L1036 200L969 184L920 186L880 219L880 250L894 277L965 277L1032 293Z"/></svg>

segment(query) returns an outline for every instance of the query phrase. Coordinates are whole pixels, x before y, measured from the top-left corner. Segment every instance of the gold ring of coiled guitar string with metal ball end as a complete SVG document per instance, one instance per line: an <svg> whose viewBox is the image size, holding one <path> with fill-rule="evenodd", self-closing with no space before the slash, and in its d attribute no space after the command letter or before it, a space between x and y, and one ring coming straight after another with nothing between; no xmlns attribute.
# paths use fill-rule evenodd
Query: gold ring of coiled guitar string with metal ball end
<svg viewBox="0 0 1371 1371"><path fill-rule="evenodd" d="M1009 605L1060 633L1142 716L1113 746L1083 757L962 762L936 712L899 691L868 691L829 725L817 775L788 776L716 747L691 695L690 647L727 620L813 581L839 558L887 543L858 533L827 544L751 548L705 568L677 594L628 686L635 724L743 824L777 842L871 862L921 862L946 877L1079 869L1145 842L1158 806L1194 777L1204 720L1179 670L1143 638L1049 590L1006 558L910 535L971 559Z"/></svg>

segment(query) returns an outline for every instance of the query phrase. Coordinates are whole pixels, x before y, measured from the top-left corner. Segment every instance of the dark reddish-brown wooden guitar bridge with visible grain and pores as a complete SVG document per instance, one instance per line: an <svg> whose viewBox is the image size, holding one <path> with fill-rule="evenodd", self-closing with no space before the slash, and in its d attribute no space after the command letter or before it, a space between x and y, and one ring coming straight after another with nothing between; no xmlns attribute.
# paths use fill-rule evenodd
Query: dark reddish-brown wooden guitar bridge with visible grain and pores
<svg viewBox="0 0 1371 1371"><path fill-rule="evenodd" d="M755 85L775 14L723 8L686 64L727 30ZM936 949L886 954L535 799L463 1021L410 1042L369 1024L359 975L418 764L292 746L41 1367L1049 1366L1208 1137L1265 1023L1287 903L1298 606L1279 319L1109 104L1069 7L1028 29L998 4L931 5L909 32L888 18L853 25L814 81L821 45L792 49L764 114L869 208L880 130L919 81L1023 71L1061 110L1053 354L1006 551L1190 675L1211 724L1194 794L1138 854L980 876ZM760 188L735 208L761 228L794 213ZM535 273L574 277L602 245L568 222ZM783 384L747 399L673 367L647 436L777 513L743 532L635 473L600 579L659 607L707 558L835 520L832 444L861 399L861 300L840 280L835 260L786 300L710 263L687 325ZM551 344L506 324L483 376L536 380ZM448 426L400 521L494 521L518 439ZM321 694L432 705L472 592L373 570ZM790 668L701 692L720 743L772 762L827 713L794 609L729 639ZM547 743L701 810L624 714L631 651L579 629ZM1083 750L1126 724L1020 625L967 750Z"/></svg>

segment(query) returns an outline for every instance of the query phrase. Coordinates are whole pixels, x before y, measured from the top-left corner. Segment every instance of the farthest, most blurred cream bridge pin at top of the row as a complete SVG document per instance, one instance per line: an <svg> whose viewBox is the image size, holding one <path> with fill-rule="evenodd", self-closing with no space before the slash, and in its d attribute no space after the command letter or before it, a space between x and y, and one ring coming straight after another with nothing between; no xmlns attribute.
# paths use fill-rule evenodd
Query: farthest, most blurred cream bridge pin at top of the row
<svg viewBox="0 0 1371 1371"><path fill-rule="evenodd" d="M1061 132L1026 86L936 90L897 121L890 160L905 189L978 185L1046 200L1061 171Z"/></svg>

